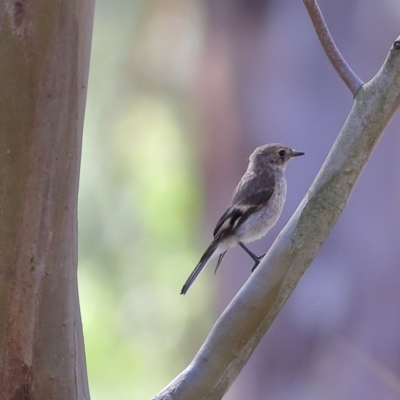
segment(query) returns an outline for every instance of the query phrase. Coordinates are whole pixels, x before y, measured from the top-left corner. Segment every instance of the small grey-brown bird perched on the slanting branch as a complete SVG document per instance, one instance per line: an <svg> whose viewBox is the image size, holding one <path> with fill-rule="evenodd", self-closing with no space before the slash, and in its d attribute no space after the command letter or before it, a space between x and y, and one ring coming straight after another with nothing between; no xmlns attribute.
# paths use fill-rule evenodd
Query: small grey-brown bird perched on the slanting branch
<svg viewBox="0 0 400 400"><path fill-rule="evenodd" d="M302 155L304 153L279 143L254 150L228 209L214 229L213 241L183 285L181 294L188 291L209 261L218 256L217 272L226 252L237 244L255 262L252 271L257 267L264 254L257 257L244 243L260 239L275 225L286 199L286 166L293 157Z"/></svg>

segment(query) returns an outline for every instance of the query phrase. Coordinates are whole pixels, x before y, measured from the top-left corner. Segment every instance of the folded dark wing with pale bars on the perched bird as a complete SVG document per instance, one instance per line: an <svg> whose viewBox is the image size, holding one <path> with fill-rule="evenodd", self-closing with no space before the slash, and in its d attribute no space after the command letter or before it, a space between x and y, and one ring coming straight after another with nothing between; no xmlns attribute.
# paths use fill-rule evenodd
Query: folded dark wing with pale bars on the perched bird
<svg viewBox="0 0 400 400"><path fill-rule="evenodd" d="M237 185L230 206L214 229L214 237L229 236L246 219L265 206L274 192L275 178L272 171L246 172Z"/></svg>

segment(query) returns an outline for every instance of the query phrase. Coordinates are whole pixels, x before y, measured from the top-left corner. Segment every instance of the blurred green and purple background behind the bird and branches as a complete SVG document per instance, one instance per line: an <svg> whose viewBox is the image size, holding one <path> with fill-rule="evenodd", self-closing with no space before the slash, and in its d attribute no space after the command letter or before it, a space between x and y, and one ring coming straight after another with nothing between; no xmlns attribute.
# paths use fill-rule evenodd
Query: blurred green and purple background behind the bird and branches
<svg viewBox="0 0 400 400"><path fill-rule="evenodd" d="M343 55L373 77L400 34L397 0L321 0ZM150 399L185 368L250 274L230 251L186 296L253 149L282 142L277 226L352 105L302 1L97 0L79 207L79 286L93 400ZM226 395L400 398L400 118L342 217Z"/></svg>

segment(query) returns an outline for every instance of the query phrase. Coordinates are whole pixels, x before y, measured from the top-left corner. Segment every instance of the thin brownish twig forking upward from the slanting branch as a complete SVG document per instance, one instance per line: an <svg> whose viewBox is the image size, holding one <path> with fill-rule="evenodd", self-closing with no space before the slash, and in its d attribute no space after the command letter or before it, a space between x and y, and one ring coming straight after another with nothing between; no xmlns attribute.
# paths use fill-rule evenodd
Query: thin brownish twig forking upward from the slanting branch
<svg viewBox="0 0 400 400"><path fill-rule="evenodd" d="M342 78L343 82L350 89L353 96L356 95L358 89L363 85L363 81L355 74L355 72L347 64L346 60L340 54L335 42L329 32L324 17L316 0L303 0L310 15L311 22L314 25L317 36L325 50L329 61L332 63L336 72Z"/></svg>

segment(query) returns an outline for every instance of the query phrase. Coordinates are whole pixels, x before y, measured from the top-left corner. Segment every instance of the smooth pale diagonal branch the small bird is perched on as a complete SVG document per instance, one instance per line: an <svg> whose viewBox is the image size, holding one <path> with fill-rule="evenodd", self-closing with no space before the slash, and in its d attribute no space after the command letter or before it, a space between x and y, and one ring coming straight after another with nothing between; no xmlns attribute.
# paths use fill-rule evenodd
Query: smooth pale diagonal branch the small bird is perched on
<svg viewBox="0 0 400 400"><path fill-rule="evenodd" d="M221 399L342 213L400 106L400 36L353 108L310 190L192 363L154 399Z"/></svg>

